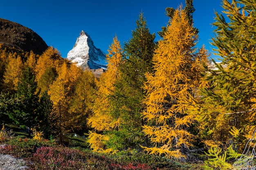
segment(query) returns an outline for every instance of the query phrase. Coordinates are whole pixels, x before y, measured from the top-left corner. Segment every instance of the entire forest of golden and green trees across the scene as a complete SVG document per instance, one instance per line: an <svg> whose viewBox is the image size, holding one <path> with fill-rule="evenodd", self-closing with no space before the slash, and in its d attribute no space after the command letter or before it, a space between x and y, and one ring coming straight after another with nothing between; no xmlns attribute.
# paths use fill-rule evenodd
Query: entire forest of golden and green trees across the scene
<svg viewBox="0 0 256 170"><path fill-rule="evenodd" d="M166 8L158 42L140 13L123 47L113 38L100 78L54 47L36 55L0 45L0 123L60 143L69 132L86 134L96 152L186 159L204 150L214 158L206 165L231 168L226 159L240 157L256 130L256 1L222 7L211 42L220 64L197 46L193 0Z"/></svg>

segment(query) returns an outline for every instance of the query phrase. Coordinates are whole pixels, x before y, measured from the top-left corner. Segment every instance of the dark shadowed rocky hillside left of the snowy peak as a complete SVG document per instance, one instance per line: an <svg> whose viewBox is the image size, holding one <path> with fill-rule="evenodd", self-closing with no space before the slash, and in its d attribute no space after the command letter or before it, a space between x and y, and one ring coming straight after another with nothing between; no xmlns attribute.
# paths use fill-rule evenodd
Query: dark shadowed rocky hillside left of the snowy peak
<svg viewBox="0 0 256 170"><path fill-rule="evenodd" d="M45 41L31 29L16 22L0 18L0 43L22 51L42 54L47 48Z"/></svg>

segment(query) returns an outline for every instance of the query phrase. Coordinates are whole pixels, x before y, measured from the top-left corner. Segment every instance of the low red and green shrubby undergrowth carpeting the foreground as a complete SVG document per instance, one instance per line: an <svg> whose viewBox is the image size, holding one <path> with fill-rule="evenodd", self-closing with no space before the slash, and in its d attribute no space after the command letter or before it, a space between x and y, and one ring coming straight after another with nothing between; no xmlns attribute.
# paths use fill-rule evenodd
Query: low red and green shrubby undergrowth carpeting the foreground
<svg viewBox="0 0 256 170"><path fill-rule="evenodd" d="M200 165L180 163L165 157L133 150L118 154L92 152L84 147L65 147L54 140L29 139L1 130L0 153L26 158L32 170L202 170ZM70 138L70 142L80 140Z"/></svg>

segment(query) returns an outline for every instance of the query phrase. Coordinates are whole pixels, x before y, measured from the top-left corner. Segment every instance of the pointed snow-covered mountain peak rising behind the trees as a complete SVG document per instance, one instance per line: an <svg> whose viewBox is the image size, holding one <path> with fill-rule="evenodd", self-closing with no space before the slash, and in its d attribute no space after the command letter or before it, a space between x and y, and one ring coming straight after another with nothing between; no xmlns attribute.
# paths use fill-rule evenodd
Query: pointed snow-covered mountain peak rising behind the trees
<svg viewBox="0 0 256 170"><path fill-rule="evenodd" d="M90 35L84 31L81 31L73 49L67 53L67 59L92 72L103 72L107 65L106 54L94 46Z"/></svg>

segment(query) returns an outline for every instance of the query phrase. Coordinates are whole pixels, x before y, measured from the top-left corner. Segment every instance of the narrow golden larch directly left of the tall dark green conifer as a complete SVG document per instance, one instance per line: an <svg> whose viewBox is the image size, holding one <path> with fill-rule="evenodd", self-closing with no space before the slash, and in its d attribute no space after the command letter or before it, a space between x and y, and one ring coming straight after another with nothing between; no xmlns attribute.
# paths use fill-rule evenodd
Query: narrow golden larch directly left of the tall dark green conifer
<svg viewBox="0 0 256 170"><path fill-rule="evenodd" d="M122 57L121 45L115 36L106 55L108 69L97 81L97 91L94 94L92 105L93 114L88 118L88 124L94 129L89 132L88 143L92 149L98 152L112 151L112 149L106 148L105 143L108 141L108 136L102 132L111 130L119 124L119 119L113 119L110 115L109 95L113 94L115 81L119 77L118 68L123 62Z"/></svg>

